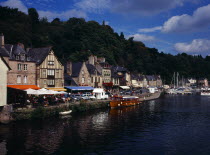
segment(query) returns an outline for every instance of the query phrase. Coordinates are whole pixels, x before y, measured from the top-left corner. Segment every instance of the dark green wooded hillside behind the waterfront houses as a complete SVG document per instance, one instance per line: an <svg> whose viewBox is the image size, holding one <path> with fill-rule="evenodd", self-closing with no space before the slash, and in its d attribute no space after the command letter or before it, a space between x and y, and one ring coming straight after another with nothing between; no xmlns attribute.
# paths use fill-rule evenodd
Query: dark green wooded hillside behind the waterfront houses
<svg viewBox="0 0 210 155"><path fill-rule="evenodd" d="M210 57L178 55L159 52L143 42L125 39L105 22L70 18L55 18L48 22L39 18L36 9L28 15L17 9L0 7L0 33L8 44L21 42L25 47L53 46L61 61L85 61L91 54L105 57L111 65L120 65L131 72L160 74L169 83L174 72L183 77L207 77L210 79ZM168 51L169 52L169 51Z"/></svg>

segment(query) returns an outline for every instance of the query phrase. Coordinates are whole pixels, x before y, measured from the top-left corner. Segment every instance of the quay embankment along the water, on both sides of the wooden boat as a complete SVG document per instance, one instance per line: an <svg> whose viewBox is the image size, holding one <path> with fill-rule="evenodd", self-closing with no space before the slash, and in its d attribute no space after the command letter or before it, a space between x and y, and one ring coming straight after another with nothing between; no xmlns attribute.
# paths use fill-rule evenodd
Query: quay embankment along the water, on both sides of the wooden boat
<svg viewBox="0 0 210 155"><path fill-rule="evenodd" d="M159 98L160 92L154 94L142 94L140 101L149 101ZM84 111L90 111L94 109L108 108L110 100L95 100L95 101L78 101L71 103L63 103L54 106L40 106L37 108L18 108L13 110L8 117L9 121L19 120L33 120L33 119L45 119L48 117L59 116L59 112L72 110L72 113L79 113ZM8 115L8 114L7 114Z"/></svg>

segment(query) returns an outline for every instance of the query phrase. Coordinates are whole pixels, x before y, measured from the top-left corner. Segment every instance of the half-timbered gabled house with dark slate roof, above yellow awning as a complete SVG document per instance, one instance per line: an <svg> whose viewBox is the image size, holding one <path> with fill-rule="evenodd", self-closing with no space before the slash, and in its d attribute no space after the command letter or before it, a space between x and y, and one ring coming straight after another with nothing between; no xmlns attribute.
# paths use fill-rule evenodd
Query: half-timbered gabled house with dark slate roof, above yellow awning
<svg viewBox="0 0 210 155"><path fill-rule="evenodd" d="M36 81L41 88L63 88L64 66L55 56L52 47L28 49L28 56L36 62ZM58 90L58 89L56 89Z"/></svg>

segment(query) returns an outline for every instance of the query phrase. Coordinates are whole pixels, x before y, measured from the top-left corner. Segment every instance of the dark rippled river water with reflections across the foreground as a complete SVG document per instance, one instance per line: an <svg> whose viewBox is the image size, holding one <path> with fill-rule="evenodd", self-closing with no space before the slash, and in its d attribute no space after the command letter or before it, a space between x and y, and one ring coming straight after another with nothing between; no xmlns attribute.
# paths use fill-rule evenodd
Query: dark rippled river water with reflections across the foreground
<svg viewBox="0 0 210 155"><path fill-rule="evenodd" d="M3 154L210 154L210 97L170 96L122 109L0 125Z"/></svg>

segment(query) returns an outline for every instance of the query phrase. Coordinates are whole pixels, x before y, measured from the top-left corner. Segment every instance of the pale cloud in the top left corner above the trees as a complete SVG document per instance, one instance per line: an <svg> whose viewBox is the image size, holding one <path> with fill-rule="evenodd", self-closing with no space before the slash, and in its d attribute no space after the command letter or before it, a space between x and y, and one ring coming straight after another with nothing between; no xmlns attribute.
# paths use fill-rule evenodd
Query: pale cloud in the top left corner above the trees
<svg viewBox="0 0 210 155"><path fill-rule="evenodd" d="M18 8L19 11L28 13L28 8L21 2L21 0L8 0L0 3L1 6L8 6L10 8Z"/></svg>

